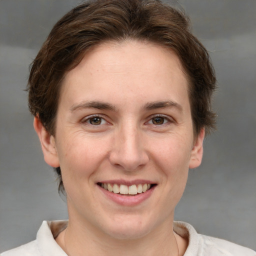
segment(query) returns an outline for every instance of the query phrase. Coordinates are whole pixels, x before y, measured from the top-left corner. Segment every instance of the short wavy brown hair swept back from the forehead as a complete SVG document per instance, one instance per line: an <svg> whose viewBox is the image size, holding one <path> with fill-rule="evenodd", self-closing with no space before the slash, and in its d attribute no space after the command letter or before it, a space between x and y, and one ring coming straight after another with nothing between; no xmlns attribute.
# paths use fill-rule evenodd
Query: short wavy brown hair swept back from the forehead
<svg viewBox="0 0 256 256"><path fill-rule="evenodd" d="M204 46L191 33L188 17L159 0L92 0L74 7L52 28L33 60L28 79L29 109L54 135L61 81L92 46L134 39L175 52L188 81L194 134L215 126L211 95L214 69ZM64 191L60 167L58 189Z"/></svg>

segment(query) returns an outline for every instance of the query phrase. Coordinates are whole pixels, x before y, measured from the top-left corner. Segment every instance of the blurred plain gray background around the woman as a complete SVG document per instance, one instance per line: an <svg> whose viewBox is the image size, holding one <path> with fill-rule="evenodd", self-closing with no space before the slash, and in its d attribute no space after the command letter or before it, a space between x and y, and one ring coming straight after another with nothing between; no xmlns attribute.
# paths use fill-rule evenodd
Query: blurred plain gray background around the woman
<svg viewBox="0 0 256 256"><path fill-rule="evenodd" d="M77 0L0 0L0 251L67 217L23 91L28 65ZM218 131L204 142L175 218L256 249L256 1L180 0L216 69ZM178 3L176 3L178 4Z"/></svg>

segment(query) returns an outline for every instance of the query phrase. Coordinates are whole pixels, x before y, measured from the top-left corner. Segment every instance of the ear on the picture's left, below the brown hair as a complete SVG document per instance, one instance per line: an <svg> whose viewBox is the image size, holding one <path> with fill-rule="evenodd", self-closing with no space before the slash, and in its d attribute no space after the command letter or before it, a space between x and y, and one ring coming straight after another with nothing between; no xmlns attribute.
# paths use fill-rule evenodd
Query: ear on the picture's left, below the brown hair
<svg viewBox="0 0 256 256"><path fill-rule="evenodd" d="M39 137L42 152L44 155L44 161L52 167L58 167L58 154L55 145L55 138L51 135L45 127L42 125L41 121L37 116L34 117L34 129Z"/></svg>

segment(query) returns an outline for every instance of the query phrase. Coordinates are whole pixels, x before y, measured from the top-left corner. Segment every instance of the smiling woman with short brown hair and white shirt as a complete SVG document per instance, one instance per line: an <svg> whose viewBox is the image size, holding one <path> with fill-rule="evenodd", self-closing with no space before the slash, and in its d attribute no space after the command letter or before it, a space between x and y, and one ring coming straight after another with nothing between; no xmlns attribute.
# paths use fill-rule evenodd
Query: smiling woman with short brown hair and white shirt
<svg viewBox="0 0 256 256"><path fill-rule="evenodd" d="M8 255L255 255L173 215L202 158L215 76L186 17L155 0L97 0L53 27L29 107L68 221Z"/></svg>

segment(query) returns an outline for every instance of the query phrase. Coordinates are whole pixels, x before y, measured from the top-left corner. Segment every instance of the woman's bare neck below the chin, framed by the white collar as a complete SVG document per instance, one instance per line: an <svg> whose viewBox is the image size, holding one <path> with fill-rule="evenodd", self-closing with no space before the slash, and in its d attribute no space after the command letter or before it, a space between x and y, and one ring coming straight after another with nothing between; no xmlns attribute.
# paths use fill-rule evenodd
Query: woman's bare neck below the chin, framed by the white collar
<svg viewBox="0 0 256 256"><path fill-rule="evenodd" d="M85 252L87 255L103 256L177 256L179 254L180 240L176 239L177 235L175 234L175 237L172 231L172 221L163 223L160 228L134 239L117 239L92 229L89 224L82 226L69 220L67 228L59 234L56 241L68 256L84 256Z"/></svg>

